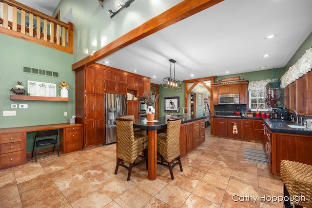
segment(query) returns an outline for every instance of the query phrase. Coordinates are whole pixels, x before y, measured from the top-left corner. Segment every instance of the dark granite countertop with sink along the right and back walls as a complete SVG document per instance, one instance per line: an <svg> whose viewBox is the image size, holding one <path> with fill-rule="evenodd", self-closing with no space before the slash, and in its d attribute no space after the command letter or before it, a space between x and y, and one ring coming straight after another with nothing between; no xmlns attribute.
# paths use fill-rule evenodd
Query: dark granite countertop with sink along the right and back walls
<svg viewBox="0 0 312 208"><path fill-rule="evenodd" d="M214 118L263 120L266 123L267 127L270 128L271 132L312 135L312 130L289 127L288 125L298 125L298 124L292 121L287 121L287 120L281 120L281 119L272 120L270 118L262 118L262 117L256 118L256 117L239 117L239 116L235 116L235 117L234 116L214 116Z"/></svg>

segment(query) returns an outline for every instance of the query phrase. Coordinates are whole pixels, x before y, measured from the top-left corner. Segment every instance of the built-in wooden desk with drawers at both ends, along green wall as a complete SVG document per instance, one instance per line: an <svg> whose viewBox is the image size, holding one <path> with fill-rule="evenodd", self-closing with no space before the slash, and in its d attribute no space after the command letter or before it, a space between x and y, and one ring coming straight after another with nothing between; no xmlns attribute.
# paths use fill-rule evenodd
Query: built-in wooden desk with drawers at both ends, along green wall
<svg viewBox="0 0 312 208"><path fill-rule="evenodd" d="M26 133L59 129L63 153L82 149L82 124L47 124L0 129L0 169L26 163Z"/></svg>

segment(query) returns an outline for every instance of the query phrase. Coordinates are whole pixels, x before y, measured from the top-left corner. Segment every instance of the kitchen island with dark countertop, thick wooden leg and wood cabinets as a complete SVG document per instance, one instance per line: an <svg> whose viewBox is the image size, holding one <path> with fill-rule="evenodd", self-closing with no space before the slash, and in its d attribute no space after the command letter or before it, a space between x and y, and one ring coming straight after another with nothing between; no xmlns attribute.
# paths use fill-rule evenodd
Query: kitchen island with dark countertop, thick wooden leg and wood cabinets
<svg viewBox="0 0 312 208"><path fill-rule="evenodd" d="M133 121L133 126L136 128L144 129L147 130L148 132L148 179L149 180L155 180L156 179L156 173L157 173L157 130L158 131L163 131L167 128L167 119L168 118L173 118L173 117L181 117L181 129L185 130L186 132L180 132L180 135L185 133L189 134L186 135L186 138L190 138L190 131L196 128L198 129L198 133L200 132L199 127L200 121L203 121L203 125L205 125L205 116L164 116L164 117L156 117L155 122L147 122L146 120L139 120L135 119ZM190 124L194 125L194 123L197 126L194 127L192 126L190 128ZM205 126L204 126L205 127ZM197 131L196 131L197 132ZM192 132L192 137L193 137L193 132ZM181 136L180 136L181 137ZM199 137L199 134L198 134ZM197 138L197 137L195 137ZM193 139L193 138L192 138ZM181 140L181 138L180 138ZM190 139L189 139L190 140ZM198 140L200 141L200 140ZM192 144L194 142L192 141ZM180 149L182 144L180 144ZM182 147L183 148L183 147ZM194 146L192 147L194 148Z"/></svg>

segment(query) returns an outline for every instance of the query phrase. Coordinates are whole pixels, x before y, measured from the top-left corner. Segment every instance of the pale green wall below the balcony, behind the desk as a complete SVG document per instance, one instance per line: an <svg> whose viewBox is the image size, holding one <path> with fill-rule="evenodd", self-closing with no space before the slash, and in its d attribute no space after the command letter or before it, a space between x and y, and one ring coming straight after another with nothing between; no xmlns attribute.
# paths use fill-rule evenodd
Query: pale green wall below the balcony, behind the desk
<svg viewBox="0 0 312 208"><path fill-rule="evenodd" d="M0 128L68 123L75 114L75 72L71 70L73 55L0 34L0 112L16 111L16 116L2 116ZM22 66L59 72L59 78L22 73ZM10 100L11 88L27 80L69 84L69 102ZM28 104L28 109L11 109L11 104ZM68 116L64 116L64 112ZM32 150L32 133L27 134L27 151Z"/></svg>

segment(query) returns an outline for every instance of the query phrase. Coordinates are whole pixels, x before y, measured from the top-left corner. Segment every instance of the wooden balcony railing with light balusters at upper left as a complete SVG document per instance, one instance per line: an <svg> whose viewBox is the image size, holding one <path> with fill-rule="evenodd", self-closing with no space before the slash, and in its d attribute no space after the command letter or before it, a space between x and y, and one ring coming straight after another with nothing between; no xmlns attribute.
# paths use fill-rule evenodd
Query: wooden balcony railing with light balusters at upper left
<svg viewBox="0 0 312 208"><path fill-rule="evenodd" d="M0 33L73 54L73 23L14 0L0 0Z"/></svg>

